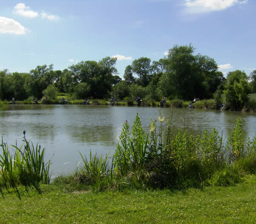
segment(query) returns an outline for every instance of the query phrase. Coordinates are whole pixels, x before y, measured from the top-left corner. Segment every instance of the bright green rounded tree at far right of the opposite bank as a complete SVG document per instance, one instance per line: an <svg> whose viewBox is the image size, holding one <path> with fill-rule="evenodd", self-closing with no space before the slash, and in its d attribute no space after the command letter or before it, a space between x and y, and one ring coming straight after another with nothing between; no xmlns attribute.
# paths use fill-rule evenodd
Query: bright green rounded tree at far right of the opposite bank
<svg viewBox="0 0 256 224"><path fill-rule="evenodd" d="M250 93L250 87L248 79L249 77L246 73L240 70L227 74L224 95L226 101L231 103L234 109L241 108L241 106L244 106L244 103L249 100L248 94Z"/></svg>

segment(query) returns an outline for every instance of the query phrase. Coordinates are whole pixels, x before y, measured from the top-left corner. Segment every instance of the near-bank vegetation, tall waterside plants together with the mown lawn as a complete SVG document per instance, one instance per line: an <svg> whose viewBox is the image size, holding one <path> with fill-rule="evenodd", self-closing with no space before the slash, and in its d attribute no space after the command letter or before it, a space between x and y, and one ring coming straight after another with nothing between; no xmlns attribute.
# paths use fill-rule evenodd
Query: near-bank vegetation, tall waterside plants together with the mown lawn
<svg viewBox="0 0 256 224"><path fill-rule="evenodd" d="M0 223L252 223L256 137L242 139L240 119L225 144L215 129L173 136L165 121L160 113L146 133L137 115L114 155L80 154L83 165L52 184L44 149L25 132L14 154L2 142Z"/></svg>

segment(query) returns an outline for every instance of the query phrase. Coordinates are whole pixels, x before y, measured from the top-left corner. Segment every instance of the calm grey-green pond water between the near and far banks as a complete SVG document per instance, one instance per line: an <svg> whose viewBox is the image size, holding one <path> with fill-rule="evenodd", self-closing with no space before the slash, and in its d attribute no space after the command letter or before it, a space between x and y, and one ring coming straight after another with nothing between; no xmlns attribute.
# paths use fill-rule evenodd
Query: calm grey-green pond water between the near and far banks
<svg viewBox="0 0 256 224"><path fill-rule="evenodd" d="M0 108L0 135L9 145L20 146L23 130L33 144L46 147L52 177L72 173L82 155L111 154L116 148L122 125L132 125L138 113L148 131L151 118L172 115L173 129L188 129L193 135L216 128L224 140L241 117L244 139L256 132L256 114L202 109L173 109L144 106L93 105L5 105Z"/></svg>

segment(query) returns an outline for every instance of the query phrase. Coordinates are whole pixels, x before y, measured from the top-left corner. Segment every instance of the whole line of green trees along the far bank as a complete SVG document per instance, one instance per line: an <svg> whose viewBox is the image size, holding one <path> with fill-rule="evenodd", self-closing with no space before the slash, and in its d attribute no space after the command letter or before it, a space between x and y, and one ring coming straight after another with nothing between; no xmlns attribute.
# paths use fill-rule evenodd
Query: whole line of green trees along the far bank
<svg viewBox="0 0 256 224"><path fill-rule="evenodd" d="M115 67L116 58L105 57L99 62L88 60L54 70L53 65L37 66L29 73L0 71L0 99L41 99L47 91L70 94L75 99L141 98L160 100L220 98L239 107L256 92L256 70L247 76L236 70L227 78L218 71L215 60L207 55L195 55L190 45L175 45L167 57L151 61L140 57L126 66L122 80Z"/></svg>

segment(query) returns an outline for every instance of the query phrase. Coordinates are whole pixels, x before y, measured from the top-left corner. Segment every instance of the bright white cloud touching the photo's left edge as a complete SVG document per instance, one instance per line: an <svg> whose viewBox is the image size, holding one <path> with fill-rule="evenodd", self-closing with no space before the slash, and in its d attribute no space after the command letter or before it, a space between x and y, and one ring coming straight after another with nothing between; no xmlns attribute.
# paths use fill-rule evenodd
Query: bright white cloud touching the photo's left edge
<svg viewBox="0 0 256 224"><path fill-rule="evenodd" d="M6 17L0 17L0 33L25 34L26 30L19 22Z"/></svg>

